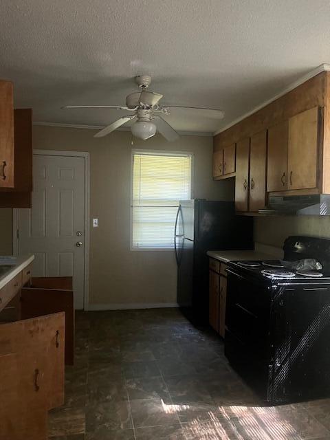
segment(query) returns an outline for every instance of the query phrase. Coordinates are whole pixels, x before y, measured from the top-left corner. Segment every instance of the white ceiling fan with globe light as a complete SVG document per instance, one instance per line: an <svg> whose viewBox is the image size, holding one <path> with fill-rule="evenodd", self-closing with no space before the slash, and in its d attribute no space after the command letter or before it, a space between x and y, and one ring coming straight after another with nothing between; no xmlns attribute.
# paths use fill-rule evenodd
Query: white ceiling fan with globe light
<svg viewBox="0 0 330 440"><path fill-rule="evenodd" d="M94 137L103 137L129 121L135 121L131 126L131 132L135 137L146 140L155 135L158 131L168 141L174 141L179 138L175 129L162 118L162 115L170 114L170 109L197 110L205 113L206 116L214 115L222 119L223 111L217 109L205 109L198 107L183 107L180 105L164 105L159 106L159 101L163 95L154 91L148 91L151 84L151 76L140 75L135 77L135 82L140 87L140 91L136 91L126 97L126 106L121 105L68 105L63 109L118 109L131 111L131 115L123 116L115 120L110 125L96 133Z"/></svg>

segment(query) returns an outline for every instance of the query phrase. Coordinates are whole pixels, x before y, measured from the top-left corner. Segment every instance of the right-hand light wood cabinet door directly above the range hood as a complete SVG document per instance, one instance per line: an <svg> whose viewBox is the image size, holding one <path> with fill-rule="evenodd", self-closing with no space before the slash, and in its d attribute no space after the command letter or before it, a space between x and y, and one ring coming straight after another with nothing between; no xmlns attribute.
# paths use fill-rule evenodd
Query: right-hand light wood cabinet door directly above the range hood
<svg viewBox="0 0 330 440"><path fill-rule="evenodd" d="M289 119L289 190L317 186L318 113L318 107L314 107Z"/></svg>

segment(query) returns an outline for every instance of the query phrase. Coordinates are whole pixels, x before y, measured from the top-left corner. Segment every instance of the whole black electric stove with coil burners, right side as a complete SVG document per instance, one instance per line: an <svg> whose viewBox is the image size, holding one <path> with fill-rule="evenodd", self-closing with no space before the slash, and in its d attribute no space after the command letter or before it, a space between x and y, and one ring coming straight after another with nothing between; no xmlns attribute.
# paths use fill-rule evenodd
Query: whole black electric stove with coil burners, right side
<svg viewBox="0 0 330 440"><path fill-rule="evenodd" d="M227 268L225 355L271 405L330 397L330 240L290 236L283 250Z"/></svg>

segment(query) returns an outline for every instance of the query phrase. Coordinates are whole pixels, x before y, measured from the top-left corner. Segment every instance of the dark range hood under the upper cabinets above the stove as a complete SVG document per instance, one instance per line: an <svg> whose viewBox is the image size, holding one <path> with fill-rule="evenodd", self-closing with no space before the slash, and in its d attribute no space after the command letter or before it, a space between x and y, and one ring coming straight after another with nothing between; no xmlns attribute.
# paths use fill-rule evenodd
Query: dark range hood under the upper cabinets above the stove
<svg viewBox="0 0 330 440"><path fill-rule="evenodd" d="M259 209L267 215L330 215L330 195L272 196L268 205Z"/></svg>

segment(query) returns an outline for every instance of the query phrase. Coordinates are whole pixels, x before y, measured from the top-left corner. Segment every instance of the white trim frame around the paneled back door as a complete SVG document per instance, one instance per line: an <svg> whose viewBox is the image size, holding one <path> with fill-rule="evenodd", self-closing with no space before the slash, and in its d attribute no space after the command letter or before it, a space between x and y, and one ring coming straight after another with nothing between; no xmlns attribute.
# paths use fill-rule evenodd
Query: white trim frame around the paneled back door
<svg viewBox="0 0 330 440"><path fill-rule="evenodd" d="M89 153L85 151L61 151L61 150L39 150L33 151L34 156L71 156L85 158L85 277L84 277L84 310L89 310L89 206L90 206L90 166ZM12 253L17 255L19 252L19 237L17 234L19 226L19 209L12 210Z"/></svg>

